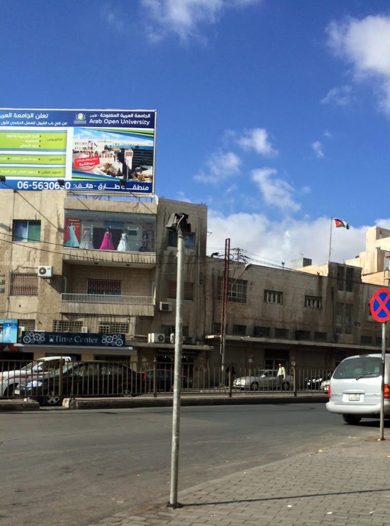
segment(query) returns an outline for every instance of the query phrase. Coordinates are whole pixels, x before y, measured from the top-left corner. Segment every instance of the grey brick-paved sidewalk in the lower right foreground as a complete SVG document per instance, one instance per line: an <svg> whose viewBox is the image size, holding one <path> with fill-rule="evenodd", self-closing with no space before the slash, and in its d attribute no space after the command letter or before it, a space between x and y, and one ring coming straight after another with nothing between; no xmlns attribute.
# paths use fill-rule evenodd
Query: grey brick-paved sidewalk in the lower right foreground
<svg viewBox="0 0 390 526"><path fill-rule="evenodd" d="M390 441L353 438L319 450L231 474L179 492L134 514L90 526L381 526L389 523ZM386 435L385 435L386 437ZM179 462L180 463L180 462ZM180 476L179 476L180 488ZM386 518L387 515L387 518Z"/></svg>

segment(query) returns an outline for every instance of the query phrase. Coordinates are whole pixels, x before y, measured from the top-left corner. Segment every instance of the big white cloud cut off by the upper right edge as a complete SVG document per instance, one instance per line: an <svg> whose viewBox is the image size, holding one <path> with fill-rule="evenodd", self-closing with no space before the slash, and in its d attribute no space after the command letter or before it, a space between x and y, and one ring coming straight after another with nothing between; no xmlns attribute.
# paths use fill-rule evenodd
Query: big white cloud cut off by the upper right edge
<svg viewBox="0 0 390 526"><path fill-rule="evenodd" d="M390 113L390 16L347 18L326 29L334 53L354 68L355 78L373 79L381 91L381 105Z"/></svg>

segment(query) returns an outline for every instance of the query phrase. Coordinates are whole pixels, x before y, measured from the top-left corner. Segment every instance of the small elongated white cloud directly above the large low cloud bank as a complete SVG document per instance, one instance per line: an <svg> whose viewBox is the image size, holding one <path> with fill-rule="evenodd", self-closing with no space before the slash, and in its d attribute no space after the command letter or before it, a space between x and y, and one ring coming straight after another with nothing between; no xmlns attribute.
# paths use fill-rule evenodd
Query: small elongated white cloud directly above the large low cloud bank
<svg viewBox="0 0 390 526"><path fill-rule="evenodd" d="M274 168L256 168L252 170L251 179L256 183L266 204L276 206L284 211L297 211L301 208L292 197L294 188L283 179L274 178Z"/></svg>

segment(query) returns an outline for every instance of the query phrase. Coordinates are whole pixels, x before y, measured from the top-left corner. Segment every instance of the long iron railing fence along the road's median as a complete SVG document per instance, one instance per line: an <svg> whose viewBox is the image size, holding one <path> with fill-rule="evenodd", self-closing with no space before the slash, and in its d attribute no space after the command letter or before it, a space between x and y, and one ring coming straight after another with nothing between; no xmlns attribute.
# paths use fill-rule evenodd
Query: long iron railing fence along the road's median
<svg viewBox="0 0 390 526"><path fill-rule="evenodd" d="M173 390L173 363L129 361L0 361L0 397L34 398L55 405L65 397L160 396ZM285 368L230 363L200 366L183 363L181 392L185 395L218 393L319 392L326 393L332 371L320 368Z"/></svg>

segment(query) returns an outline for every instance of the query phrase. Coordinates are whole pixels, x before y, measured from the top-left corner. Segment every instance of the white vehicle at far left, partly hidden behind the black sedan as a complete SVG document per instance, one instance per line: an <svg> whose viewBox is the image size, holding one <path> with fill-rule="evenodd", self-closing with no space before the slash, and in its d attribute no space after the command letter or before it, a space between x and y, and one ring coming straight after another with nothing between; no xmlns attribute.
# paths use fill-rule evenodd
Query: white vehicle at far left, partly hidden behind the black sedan
<svg viewBox="0 0 390 526"><path fill-rule="evenodd" d="M21 369L12 371L0 371L0 396L13 396L15 387L21 379L32 378L34 374L42 375L46 370L58 368L58 361L72 361L70 356L46 356L38 358Z"/></svg>

